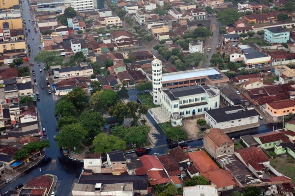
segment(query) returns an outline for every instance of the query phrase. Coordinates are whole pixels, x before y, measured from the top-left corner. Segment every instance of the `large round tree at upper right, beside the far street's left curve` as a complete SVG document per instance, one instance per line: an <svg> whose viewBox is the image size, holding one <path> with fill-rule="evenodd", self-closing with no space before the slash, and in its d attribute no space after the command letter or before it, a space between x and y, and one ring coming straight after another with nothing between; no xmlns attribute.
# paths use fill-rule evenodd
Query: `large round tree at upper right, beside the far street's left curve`
<svg viewBox="0 0 295 196"><path fill-rule="evenodd" d="M216 15L217 21L222 25L228 26L241 17L241 14L236 9L224 9Z"/></svg>

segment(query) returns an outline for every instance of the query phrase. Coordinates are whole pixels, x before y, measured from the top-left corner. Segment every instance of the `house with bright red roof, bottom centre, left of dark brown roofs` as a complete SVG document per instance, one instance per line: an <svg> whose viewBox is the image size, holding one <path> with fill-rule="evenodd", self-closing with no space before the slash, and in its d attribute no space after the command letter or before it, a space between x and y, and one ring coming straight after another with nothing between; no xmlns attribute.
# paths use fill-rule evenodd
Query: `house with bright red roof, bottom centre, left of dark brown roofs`
<svg viewBox="0 0 295 196"><path fill-rule="evenodd" d="M142 162L143 167L137 168L136 175L148 173L148 182L152 186L170 182L162 164L154 155L144 155L139 159Z"/></svg>

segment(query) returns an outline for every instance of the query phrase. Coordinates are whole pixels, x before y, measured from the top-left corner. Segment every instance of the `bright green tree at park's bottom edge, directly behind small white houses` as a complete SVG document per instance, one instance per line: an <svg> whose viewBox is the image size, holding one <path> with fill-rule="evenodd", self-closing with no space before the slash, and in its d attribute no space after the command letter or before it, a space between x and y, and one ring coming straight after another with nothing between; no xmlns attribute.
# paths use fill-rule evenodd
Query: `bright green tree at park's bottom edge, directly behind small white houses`
<svg viewBox="0 0 295 196"><path fill-rule="evenodd" d="M108 136L105 133L98 134L93 140L94 152L106 154L112 150L125 150L126 141L119 139L116 136Z"/></svg>

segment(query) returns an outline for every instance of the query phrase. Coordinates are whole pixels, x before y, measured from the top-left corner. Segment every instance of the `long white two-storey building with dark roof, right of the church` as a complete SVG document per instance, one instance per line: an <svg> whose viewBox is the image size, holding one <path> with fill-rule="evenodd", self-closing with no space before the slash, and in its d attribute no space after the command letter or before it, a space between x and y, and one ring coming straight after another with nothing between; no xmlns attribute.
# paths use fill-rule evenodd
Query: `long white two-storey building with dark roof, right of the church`
<svg viewBox="0 0 295 196"><path fill-rule="evenodd" d="M228 106L205 111L205 120L212 128L224 132L234 132L247 128L259 127L259 113L255 110L245 110L241 106Z"/></svg>

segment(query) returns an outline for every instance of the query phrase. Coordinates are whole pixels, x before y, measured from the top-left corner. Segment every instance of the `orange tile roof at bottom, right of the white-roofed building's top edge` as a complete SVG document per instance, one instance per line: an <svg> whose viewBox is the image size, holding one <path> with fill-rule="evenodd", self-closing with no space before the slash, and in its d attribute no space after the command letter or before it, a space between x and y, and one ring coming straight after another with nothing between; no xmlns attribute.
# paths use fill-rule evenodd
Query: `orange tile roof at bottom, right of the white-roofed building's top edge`
<svg viewBox="0 0 295 196"><path fill-rule="evenodd" d="M223 169L208 171L206 174L204 174L204 177L207 178L209 182L214 183L217 189L231 185L237 185L231 173Z"/></svg>

